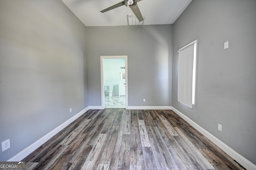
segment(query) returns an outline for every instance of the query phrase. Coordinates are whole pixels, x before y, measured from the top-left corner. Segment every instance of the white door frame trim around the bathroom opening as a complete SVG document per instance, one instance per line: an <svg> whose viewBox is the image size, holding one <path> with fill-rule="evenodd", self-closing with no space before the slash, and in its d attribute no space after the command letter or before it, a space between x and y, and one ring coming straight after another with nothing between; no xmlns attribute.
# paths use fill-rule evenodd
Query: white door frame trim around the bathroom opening
<svg viewBox="0 0 256 170"><path fill-rule="evenodd" d="M128 56L100 56L100 79L101 79L101 108L105 108L105 81L104 81L104 58L124 58L125 59L125 108L128 109Z"/></svg>

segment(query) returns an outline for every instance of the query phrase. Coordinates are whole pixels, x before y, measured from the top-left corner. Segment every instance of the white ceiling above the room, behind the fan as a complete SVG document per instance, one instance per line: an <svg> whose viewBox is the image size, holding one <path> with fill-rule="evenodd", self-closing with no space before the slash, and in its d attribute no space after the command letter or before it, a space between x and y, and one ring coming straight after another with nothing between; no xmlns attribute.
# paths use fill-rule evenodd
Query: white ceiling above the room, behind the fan
<svg viewBox="0 0 256 170"><path fill-rule="evenodd" d="M101 10L122 0L62 0L86 26L127 25L127 14L132 10L120 6L105 13ZM138 2L144 25L173 24L192 0L142 0Z"/></svg>

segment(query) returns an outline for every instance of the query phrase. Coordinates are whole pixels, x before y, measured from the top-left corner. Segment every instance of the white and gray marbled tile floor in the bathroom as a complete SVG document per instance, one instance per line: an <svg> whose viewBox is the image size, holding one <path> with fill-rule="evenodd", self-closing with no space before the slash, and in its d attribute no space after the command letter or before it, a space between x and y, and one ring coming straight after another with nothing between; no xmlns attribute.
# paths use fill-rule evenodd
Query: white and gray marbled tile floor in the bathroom
<svg viewBox="0 0 256 170"><path fill-rule="evenodd" d="M105 96L105 108L125 108L125 96Z"/></svg>

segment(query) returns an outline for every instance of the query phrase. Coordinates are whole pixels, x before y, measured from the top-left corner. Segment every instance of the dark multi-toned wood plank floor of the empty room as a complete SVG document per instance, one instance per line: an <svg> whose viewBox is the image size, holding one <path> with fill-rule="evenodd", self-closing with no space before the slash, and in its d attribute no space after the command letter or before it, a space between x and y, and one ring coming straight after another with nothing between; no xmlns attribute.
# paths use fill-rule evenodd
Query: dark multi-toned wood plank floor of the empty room
<svg viewBox="0 0 256 170"><path fill-rule="evenodd" d="M244 170L171 110L89 110L23 161L27 170Z"/></svg>

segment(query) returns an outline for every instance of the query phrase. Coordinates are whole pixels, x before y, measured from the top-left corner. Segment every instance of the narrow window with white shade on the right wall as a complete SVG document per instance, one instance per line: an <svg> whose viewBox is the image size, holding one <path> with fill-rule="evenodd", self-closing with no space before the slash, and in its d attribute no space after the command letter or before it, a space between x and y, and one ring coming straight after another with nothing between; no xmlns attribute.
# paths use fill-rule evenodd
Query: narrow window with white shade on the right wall
<svg viewBox="0 0 256 170"><path fill-rule="evenodd" d="M178 102L195 105L197 40L178 50Z"/></svg>

